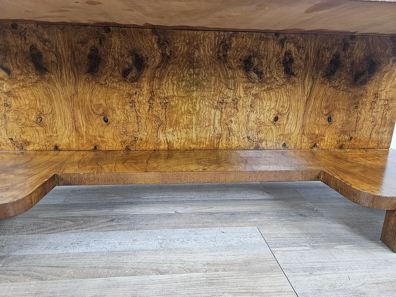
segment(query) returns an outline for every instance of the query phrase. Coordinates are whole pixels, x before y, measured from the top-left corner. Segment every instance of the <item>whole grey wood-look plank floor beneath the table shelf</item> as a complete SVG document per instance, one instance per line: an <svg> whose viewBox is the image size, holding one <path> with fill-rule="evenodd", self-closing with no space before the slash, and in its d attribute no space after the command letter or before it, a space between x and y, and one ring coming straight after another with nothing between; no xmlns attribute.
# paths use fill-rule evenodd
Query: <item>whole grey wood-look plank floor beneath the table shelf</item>
<svg viewBox="0 0 396 297"><path fill-rule="evenodd" d="M320 182L56 187L0 221L0 296L396 296L384 215Z"/></svg>

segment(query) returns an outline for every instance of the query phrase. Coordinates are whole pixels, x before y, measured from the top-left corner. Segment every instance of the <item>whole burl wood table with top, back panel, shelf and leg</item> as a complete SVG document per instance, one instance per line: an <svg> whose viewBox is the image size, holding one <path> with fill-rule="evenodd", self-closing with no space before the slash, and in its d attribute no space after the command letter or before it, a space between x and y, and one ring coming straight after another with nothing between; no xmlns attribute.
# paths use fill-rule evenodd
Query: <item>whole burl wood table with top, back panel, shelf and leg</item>
<svg viewBox="0 0 396 297"><path fill-rule="evenodd" d="M241 16L213 18L200 9L216 2L172 2L206 28L111 4L103 20L88 2L91 21L22 0L0 12L0 219L56 185L322 181L386 209L396 251L396 4L290 1L257 18L265 6L230 1Z"/></svg>

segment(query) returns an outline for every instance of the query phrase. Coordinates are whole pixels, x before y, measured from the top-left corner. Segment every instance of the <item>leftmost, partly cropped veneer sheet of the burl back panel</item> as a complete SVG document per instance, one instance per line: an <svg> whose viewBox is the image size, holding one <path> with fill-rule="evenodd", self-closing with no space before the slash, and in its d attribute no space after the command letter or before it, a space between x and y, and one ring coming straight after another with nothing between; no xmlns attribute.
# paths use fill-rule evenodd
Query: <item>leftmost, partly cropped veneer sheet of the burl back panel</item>
<svg viewBox="0 0 396 297"><path fill-rule="evenodd" d="M66 28L0 24L1 149L76 148Z"/></svg>

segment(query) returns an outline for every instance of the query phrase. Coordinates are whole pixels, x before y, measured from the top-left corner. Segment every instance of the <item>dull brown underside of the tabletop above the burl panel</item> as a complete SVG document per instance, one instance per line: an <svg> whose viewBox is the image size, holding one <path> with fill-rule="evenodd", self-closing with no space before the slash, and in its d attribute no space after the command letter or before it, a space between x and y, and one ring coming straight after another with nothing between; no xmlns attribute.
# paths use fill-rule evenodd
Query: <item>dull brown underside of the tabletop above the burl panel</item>
<svg viewBox="0 0 396 297"><path fill-rule="evenodd" d="M353 0L2 0L3 21L396 34L396 4Z"/></svg>

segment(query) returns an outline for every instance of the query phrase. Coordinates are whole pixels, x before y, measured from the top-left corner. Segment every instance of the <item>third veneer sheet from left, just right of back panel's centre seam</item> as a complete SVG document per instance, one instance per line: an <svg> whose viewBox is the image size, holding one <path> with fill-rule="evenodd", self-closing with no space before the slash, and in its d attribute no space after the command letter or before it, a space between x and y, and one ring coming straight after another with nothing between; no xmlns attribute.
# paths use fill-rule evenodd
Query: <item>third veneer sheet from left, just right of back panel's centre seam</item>
<svg viewBox="0 0 396 297"><path fill-rule="evenodd" d="M306 68L301 37L285 42L286 36L274 34L197 34L194 148L300 147ZM293 60L289 73L285 56Z"/></svg>

